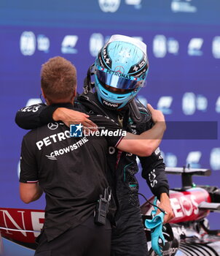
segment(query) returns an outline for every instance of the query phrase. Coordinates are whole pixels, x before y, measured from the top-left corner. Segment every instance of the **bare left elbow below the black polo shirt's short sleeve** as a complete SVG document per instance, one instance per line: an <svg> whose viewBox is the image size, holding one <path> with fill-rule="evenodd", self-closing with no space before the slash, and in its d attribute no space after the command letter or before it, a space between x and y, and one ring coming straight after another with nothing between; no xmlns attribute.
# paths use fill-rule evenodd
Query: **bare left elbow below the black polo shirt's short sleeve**
<svg viewBox="0 0 220 256"><path fill-rule="evenodd" d="M20 199L24 203L31 203L42 196L43 190L38 183L28 184L20 182Z"/></svg>

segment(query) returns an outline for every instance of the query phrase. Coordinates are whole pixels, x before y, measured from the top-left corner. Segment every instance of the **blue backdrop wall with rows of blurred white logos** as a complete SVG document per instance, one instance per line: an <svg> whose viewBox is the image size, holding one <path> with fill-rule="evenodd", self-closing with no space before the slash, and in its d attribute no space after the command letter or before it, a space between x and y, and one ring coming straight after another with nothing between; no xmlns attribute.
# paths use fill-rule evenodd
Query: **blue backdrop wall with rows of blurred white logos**
<svg viewBox="0 0 220 256"><path fill-rule="evenodd" d="M0 206L44 208L43 199L28 206L20 201L17 172L25 131L14 118L19 108L39 100L39 71L50 57L75 64L82 92L87 68L111 34L138 37L148 45L150 63L139 99L162 110L167 121L219 122L219 10L219 0L1 1ZM219 138L164 140L161 150L168 166L211 168L211 177L194 180L219 186ZM141 192L150 196L137 177ZM181 185L180 178L169 181L170 187ZM210 219L219 224L215 214Z"/></svg>

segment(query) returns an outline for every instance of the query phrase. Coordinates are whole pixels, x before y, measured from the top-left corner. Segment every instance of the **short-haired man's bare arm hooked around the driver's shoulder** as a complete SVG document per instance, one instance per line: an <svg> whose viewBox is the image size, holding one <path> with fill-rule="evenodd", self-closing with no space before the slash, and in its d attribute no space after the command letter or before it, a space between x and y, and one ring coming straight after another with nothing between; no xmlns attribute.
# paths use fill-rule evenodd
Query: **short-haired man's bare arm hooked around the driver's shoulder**
<svg viewBox="0 0 220 256"><path fill-rule="evenodd" d="M154 110L151 105L148 105L148 108L154 121L152 129L142 132L141 135L127 133L117 145L119 150L136 154L139 157L149 157L160 146L166 129L165 118L160 110Z"/></svg>

